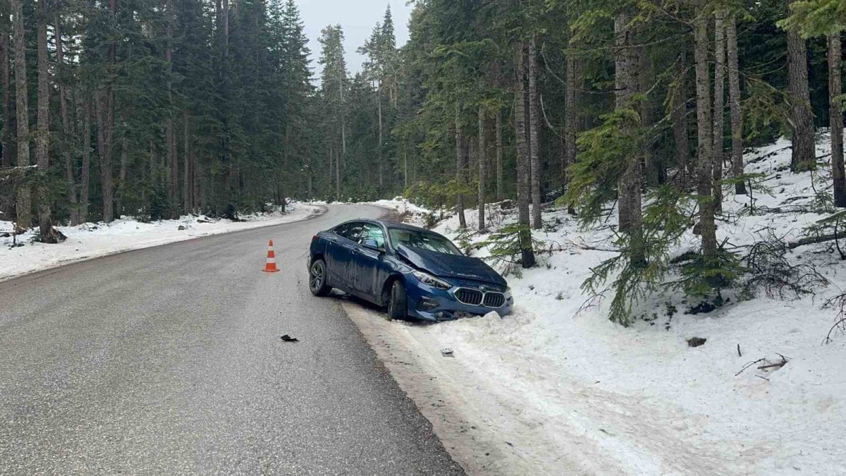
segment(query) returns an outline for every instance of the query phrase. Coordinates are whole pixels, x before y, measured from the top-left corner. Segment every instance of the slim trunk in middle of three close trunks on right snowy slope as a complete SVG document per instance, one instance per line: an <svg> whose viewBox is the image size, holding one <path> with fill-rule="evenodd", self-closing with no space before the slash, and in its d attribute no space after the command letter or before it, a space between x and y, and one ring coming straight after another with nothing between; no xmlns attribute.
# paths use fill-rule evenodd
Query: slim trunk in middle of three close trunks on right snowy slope
<svg viewBox="0 0 846 476"><path fill-rule="evenodd" d="M725 10L717 8L714 12L714 110L713 110L713 159L712 172L714 176L713 196L714 213L722 212L722 133L724 129L723 114L725 113L725 81L726 81L726 40L725 40Z"/></svg>

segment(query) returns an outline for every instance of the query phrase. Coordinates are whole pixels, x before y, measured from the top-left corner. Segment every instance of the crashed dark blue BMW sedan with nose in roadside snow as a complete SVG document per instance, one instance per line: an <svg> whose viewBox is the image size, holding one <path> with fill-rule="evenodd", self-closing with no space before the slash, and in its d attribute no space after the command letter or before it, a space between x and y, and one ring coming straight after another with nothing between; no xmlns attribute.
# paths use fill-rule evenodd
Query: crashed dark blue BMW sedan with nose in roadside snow
<svg viewBox="0 0 846 476"><path fill-rule="evenodd" d="M357 219L311 239L309 289L332 288L387 307L387 317L442 321L508 314L508 283L442 235L408 224Z"/></svg>

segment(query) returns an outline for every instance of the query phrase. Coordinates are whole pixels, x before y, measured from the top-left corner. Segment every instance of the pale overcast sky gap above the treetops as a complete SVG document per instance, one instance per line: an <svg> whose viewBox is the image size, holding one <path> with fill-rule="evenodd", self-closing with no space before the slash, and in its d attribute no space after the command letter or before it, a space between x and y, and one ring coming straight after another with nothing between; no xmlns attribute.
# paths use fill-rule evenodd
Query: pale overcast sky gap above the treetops
<svg viewBox="0 0 846 476"><path fill-rule="evenodd" d="M361 70L365 57L355 50L365 44L376 22L382 21L387 5L391 5L393 25L396 30L397 47L409 39L409 17L413 5L405 5L406 0L297 0L299 14L305 23L305 35L309 37L311 66L316 78L320 77L320 30L327 25L340 24L345 36L343 47L346 52L347 69L354 75ZM319 80L317 80L319 82Z"/></svg>

